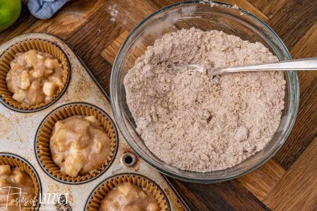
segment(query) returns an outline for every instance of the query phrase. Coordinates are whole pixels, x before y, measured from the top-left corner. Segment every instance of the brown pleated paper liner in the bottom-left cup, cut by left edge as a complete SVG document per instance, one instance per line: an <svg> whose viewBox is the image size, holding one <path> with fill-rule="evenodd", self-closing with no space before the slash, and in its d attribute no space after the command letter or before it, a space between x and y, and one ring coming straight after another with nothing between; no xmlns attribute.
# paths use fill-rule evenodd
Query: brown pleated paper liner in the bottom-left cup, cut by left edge
<svg viewBox="0 0 317 211"><path fill-rule="evenodd" d="M0 156L0 165L10 165L11 168L20 167L22 168L27 175L29 175L33 181L34 184L34 190L35 190L35 198L36 200L39 200L39 184L36 179L35 173L32 171L32 169L29 167L28 164L23 162L22 160L10 156ZM36 205L35 205L36 206Z"/></svg>

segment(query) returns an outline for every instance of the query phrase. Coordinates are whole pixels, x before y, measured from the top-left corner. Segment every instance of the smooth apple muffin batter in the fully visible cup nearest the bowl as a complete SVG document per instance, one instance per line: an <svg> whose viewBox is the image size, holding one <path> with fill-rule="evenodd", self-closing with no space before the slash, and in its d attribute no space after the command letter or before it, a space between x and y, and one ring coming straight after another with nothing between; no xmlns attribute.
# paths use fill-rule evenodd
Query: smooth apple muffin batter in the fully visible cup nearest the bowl
<svg viewBox="0 0 317 211"><path fill-rule="evenodd" d="M50 148L60 172L71 177L106 163L111 140L95 116L75 115L55 123Z"/></svg>

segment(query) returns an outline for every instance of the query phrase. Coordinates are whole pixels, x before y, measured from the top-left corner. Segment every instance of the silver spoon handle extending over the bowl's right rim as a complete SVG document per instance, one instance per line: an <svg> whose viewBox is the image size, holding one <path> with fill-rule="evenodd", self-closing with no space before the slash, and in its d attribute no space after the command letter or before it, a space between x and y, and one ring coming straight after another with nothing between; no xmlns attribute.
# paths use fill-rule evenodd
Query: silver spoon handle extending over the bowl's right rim
<svg viewBox="0 0 317 211"><path fill-rule="evenodd" d="M266 70L317 70L317 57L221 68L219 73Z"/></svg>

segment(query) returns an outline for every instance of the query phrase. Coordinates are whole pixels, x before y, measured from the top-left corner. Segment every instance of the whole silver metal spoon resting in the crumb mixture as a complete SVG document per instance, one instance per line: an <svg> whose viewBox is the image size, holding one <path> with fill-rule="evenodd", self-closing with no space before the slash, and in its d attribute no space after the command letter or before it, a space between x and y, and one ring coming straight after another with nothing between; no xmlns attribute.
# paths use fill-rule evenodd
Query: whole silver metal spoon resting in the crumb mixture
<svg viewBox="0 0 317 211"><path fill-rule="evenodd" d="M230 72L247 72L247 71L285 71L285 70L317 70L317 57L312 58L301 58L292 59L286 61L276 61L263 64L252 64L252 65L241 65L231 66L226 68L213 68L211 65L192 63L192 64L173 64L173 69L177 68L188 68L195 71L203 72L204 70L209 71L208 74L211 76L221 75Z"/></svg>

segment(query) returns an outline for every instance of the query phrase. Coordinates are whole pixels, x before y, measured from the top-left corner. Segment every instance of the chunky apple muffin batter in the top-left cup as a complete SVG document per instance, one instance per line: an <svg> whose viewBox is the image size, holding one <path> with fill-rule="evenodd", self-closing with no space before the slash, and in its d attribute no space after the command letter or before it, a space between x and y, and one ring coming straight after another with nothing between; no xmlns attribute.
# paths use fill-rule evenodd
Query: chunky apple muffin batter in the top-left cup
<svg viewBox="0 0 317 211"><path fill-rule="evenodd" d="M64 86L64 69L51 54L36 50L17 53L5 81L12 98L25 106L49 103Z"/></svg>

